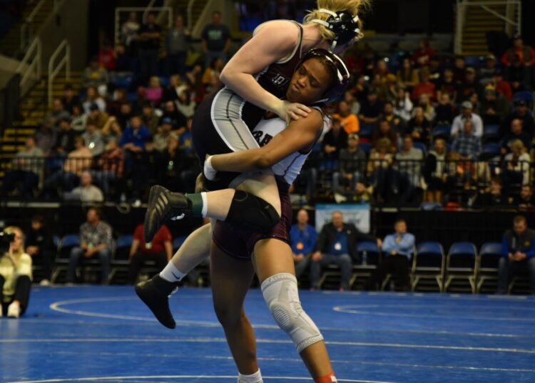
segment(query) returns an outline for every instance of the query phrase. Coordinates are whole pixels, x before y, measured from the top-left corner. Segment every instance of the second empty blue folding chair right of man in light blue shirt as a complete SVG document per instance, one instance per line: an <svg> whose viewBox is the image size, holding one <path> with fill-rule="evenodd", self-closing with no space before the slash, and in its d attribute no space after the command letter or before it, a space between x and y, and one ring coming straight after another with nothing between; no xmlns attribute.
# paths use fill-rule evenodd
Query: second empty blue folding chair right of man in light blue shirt
<svg viewBox="0 0 535 383"><path fill-rule="evenodd" d="M472 294L476 292L477 248L472 242L455 242L449 248L446 259L446 282L444 291L454 279L467 279Z"/></svg>

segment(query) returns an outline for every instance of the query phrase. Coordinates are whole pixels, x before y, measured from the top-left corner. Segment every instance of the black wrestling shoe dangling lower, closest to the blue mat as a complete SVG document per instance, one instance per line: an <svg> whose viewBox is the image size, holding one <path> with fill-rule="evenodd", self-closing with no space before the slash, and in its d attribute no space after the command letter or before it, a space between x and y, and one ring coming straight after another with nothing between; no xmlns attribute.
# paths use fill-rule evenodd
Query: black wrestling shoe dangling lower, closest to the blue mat
<svg viewBox="0 0 535 383"><path fill-rule="evenodd" d="M175 319L169 308L169 296L178 287L173 282L168 282L158 274L146 282L140 282L134 287L136 294L153 312L158 322L168 329L176 327Z"/></svg>

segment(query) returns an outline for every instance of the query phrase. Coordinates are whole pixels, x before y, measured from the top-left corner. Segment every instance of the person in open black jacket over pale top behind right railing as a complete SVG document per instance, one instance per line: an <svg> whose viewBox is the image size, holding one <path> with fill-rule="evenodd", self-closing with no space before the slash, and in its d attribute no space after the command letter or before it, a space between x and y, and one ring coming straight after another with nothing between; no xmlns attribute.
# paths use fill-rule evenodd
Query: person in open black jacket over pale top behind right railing
<svg viewBox="0 0 535 383"><path fill-rule="evenodd" d="M427 202L442 203L448 186L446 141L436 139L434 148L429 151L424 162L422 175L427 184L425 200Z"/></svg>

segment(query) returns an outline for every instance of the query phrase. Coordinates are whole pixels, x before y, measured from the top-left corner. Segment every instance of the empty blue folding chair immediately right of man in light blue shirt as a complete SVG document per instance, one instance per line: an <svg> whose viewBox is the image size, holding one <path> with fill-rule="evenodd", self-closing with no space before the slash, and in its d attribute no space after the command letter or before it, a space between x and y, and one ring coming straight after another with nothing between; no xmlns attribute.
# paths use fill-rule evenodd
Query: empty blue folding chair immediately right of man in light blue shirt
<svg viewBox="0 0 535 383"><path fill-rule="evenodd" d="M416 291L419 282L426 283L422 289L432 291L435 283L442 292L444 286L444 248L439 242L422 242L412 257L412 291ZM423 283L422 283L423 284ZM435 289L436 291L436 289Z"/></svg>

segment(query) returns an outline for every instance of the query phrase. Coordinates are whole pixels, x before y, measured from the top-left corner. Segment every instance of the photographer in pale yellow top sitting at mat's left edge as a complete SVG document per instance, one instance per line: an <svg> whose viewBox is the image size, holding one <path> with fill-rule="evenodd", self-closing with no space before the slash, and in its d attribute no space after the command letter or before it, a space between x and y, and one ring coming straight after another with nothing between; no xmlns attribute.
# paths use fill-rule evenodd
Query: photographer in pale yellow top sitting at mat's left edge
<svg viewBox="0 0 535 383"><path fill-rule="evenodd" d="M18 227L6 227L14 234L9 249L0 257L0 316L18 318L26 312L31 288L31 257L24 252L23 233Z"/></svg>

